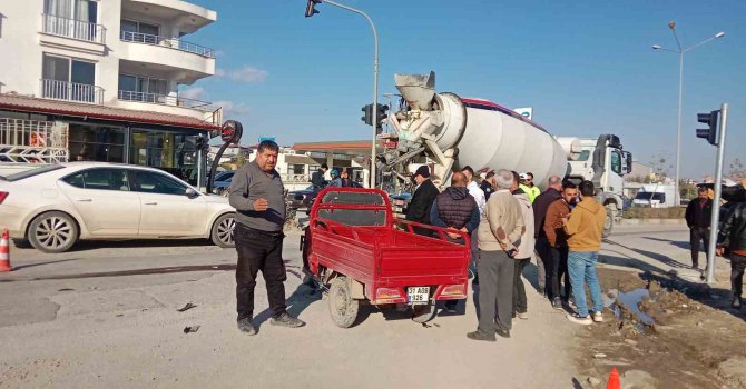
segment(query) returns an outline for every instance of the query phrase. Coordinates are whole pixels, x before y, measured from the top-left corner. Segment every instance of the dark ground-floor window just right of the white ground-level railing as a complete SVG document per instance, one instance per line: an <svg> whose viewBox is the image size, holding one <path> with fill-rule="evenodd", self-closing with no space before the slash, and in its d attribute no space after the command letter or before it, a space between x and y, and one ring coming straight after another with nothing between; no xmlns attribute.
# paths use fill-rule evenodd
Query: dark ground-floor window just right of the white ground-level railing
<svg viewBox="0 0 746 389"><path fill-rule="evenodd" d="M124 128L70 123L70 159L125 162Z"/></svg>

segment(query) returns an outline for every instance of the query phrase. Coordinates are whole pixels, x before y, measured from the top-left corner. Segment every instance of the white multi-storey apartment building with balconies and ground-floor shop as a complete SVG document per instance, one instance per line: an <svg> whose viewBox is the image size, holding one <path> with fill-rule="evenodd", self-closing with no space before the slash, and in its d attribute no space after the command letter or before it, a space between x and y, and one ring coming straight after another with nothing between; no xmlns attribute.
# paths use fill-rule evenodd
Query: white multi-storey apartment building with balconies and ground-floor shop
<svg viewBox="0 0 746 389"><path fill-rule="evenodd" d="M179 96L215 74L198 30L215 11L180 0L0 3L0 164L99 160L196 178L195 142L222 109Z"/></svg>

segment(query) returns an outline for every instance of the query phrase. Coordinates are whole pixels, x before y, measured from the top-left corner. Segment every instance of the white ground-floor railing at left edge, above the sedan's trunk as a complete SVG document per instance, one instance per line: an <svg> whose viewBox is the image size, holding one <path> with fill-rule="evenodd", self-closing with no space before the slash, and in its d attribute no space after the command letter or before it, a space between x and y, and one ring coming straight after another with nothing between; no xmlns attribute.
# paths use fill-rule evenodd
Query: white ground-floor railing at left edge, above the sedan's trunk
<svg viewBox="0 0 746 389"><path fill-rule="evenodd" d="M67 162L69 124L0 118L0 162Z"/></svg>

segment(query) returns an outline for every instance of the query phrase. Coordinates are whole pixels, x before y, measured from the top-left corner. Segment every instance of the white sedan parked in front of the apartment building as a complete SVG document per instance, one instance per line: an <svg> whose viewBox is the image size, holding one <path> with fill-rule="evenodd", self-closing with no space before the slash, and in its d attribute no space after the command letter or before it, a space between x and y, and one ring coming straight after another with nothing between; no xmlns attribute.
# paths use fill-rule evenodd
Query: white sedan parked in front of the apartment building
<svg viewBox="0 0 746 389"><path fill-rule="evenodd" d="M235 210L158 169L69 162L0 177L0 227L43 252L79 239L208 238L234 247Z"/></svg>

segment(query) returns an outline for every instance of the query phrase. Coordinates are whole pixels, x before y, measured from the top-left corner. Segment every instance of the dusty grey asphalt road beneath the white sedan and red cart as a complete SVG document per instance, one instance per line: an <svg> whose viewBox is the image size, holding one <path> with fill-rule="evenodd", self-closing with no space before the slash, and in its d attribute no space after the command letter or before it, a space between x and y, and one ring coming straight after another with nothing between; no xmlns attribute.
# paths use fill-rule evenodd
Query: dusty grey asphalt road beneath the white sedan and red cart
<svg viewBox="0 0 746 389"><path fill-rule="evenodd" d="M601 261L630 269L688 265L681 226L619 226ZM366 310L356 327L334 326L327 301L301 285L297 232L285 240L289 311L308 325L269 326L263 281L259 333L235 327L234 250L205 241L88 242L43 255L12 248L0 273L0 387L563 388L573 387L582 348L563 315L528 288L529 320L497 343L465 338L472 297L429 326L405 313ZM704 255L701 262L704 263ZM533 280L536 267L526 276ZM187 302L196 308L178 312ZM200 326L185 333L187 326Z"/></svg>

